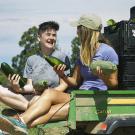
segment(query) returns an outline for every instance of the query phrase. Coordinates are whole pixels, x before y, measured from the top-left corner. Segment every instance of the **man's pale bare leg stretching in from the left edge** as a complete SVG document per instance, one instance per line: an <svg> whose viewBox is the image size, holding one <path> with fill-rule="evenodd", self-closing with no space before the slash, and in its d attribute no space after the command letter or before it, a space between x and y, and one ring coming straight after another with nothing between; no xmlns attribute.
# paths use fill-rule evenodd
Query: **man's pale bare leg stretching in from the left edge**
<svg viewBox="0 0 135 135"><path fill-rule="evenodd" d="M0 101L8 105L11 108L25 111L27 109L29 101L21 94L13 93L0 86Z"/></svg>

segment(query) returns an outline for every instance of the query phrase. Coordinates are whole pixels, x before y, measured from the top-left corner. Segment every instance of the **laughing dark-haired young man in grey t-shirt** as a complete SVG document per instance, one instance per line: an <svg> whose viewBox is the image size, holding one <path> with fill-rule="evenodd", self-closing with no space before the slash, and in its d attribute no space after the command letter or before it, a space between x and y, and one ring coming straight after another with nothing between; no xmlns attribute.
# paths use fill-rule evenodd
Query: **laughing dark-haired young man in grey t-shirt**
<svg viewBox="0 0 135 135"><path fill-rule="evenodd" d="M44 55L55 56L63 62L69 62L68 57L60 50L56 49L57 31L59 30L59 24L54 21L44 22L39 25L38 40L40 42L40 53L30 56L27 59L24 69L24 77L27 78L27 84L24 88L20 88L19 79L20 76L14 74L9 76L9 81L13 88L10 91L8 88L0 86L0 102L6 105L25 111L28 107L29 100L32 97L38 98L32 83L36 83L40 80L46 80L48 87L56 87L59 84L59 77L53 70L53 67L44 59ZM69 71L67 71L67 74ZM56 87L57 90L57 87Z"/></svg>

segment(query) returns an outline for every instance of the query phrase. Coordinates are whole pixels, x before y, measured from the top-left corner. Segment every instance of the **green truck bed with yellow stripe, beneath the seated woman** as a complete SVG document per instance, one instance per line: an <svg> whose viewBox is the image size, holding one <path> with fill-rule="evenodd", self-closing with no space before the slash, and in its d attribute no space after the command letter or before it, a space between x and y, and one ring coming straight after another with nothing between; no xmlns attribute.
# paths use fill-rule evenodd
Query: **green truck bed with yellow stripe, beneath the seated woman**
<svg viewBox="0 0 135 135"><path fill-rule="evenodd" d="M67 126L76 130L79 124L88 122L97 123L93 134L110 134L120 126L135 126L135 90L74 90L68 120L39 127Z"/></svg>

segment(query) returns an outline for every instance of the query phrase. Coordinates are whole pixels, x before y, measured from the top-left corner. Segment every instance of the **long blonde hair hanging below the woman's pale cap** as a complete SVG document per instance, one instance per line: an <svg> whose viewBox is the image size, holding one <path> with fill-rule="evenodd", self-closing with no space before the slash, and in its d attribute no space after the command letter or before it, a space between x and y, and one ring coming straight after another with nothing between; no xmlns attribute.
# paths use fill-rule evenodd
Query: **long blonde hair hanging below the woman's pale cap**
<svg viewBox="0 0 135 135"><path fill-rule="evenodd" d="M78 26L78 36L81 41L80 59L82 63L89 66L96 53L99 43L99 31L95 31L84 26Z"/></svg>

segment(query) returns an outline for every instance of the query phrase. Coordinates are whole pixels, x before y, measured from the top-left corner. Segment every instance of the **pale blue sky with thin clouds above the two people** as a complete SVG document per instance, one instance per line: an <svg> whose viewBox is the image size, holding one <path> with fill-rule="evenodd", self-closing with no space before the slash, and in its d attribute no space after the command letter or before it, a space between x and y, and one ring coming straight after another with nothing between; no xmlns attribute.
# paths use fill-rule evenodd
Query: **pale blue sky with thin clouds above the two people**
<svg viewBox="0 0 135 135"><path fill-rule="evenodd" d="M55 20L60 24L59 48L71 54L71 41L76 28L70 22L82 14L101 16L105 27L108 19L129 20L135 0L0 0L0 63L11 59L23 48L18 45L24 31L40 23Z"/></svg>

